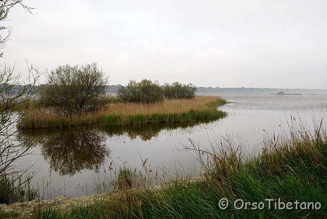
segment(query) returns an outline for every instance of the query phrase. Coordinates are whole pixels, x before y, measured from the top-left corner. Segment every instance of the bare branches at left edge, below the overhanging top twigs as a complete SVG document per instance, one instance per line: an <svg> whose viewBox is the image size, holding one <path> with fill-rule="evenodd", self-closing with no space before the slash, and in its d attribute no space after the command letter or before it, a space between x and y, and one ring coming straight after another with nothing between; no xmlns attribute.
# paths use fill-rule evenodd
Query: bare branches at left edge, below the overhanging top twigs
<svg viewBox="0 0 327 219"><path fill-rule="evenodd" d="M0 177L30 149L30 145L15 142L18 131L15 124L27 115L30 100L39 90L40 73L32 66L28 70L30 83L21 85L20 76L14 76L13 69L6 65L0 69Z"/></svg>

